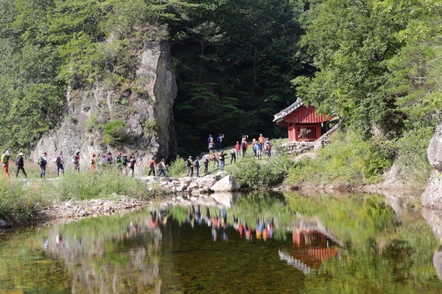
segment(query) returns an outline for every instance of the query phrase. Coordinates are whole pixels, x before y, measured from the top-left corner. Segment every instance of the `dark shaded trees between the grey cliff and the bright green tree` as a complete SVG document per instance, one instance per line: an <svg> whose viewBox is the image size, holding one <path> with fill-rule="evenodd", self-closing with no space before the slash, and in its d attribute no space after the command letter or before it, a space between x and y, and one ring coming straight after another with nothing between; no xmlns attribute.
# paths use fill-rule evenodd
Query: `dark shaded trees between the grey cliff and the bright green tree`
<svg viewBox="0 0 442 294"><path fill-rule="evenodd" d="M205 137L225 133L280 137L273 114L295 100L290 79L302 64L295 20L301 1L204 0L189 21L171 23L178 82L174 116L181 155L206 148ZM204 138L203 138L204 137Z"/></svg>

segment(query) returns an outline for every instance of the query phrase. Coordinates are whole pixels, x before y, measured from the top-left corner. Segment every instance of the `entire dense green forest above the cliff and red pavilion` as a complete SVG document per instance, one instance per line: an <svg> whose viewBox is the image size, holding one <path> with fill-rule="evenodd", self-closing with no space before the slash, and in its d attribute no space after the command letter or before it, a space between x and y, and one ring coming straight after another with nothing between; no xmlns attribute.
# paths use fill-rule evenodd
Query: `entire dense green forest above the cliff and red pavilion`
<svg viewBox="0 0 442 294"><path fill-rule="evenodd" d="M281 137L300 96L413 164L441 120L438 0L0 0L1 145L29 150L67 87L123 92L145 41L172 44L178 151ZM411 162L411 163L410 163Z"/></svg>

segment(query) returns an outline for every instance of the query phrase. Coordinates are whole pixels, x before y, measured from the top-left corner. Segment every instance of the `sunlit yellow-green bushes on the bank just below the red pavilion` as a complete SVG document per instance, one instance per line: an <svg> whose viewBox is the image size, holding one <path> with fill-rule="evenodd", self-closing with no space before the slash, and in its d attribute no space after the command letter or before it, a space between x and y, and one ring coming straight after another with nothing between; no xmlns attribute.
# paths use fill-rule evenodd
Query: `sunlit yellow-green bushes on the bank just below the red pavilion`
<svg viewBox="0 0 442 294"><path fill-rule="evenodd" d="M318 151L316 158L302 160L290 169L288 183L344 183L361 185L382 180L391 166L391 148L364 140L355 132L338 132L332 144Z"/></svg>

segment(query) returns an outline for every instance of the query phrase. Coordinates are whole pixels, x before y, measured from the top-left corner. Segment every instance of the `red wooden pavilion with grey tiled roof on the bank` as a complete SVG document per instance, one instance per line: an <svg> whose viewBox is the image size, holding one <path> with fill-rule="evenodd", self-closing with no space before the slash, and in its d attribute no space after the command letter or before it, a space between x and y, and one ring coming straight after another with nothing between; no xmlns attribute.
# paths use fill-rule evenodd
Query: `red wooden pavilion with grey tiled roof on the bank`
<svg viewBox="0 0 442 294"><path fill-rule="evenodd" d="M312 105L304 106L300 98L295 103L274 115L277 125L288 128L288 139L292 141L316 141L322 135L322 123L330 121L330 116L319 116Z"/></svg>

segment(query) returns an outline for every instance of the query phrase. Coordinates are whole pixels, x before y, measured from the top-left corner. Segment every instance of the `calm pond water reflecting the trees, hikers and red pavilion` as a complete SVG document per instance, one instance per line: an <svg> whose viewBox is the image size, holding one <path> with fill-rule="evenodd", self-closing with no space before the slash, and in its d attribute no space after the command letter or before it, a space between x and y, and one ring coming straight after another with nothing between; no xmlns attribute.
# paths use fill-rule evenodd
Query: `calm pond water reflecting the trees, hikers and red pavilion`
<svg viewBox="0 0 442 294"><path fill-rule="evenodd" d="M159 206L1 232L0 293L442 293L441 224L394 196Z"/></svg>

